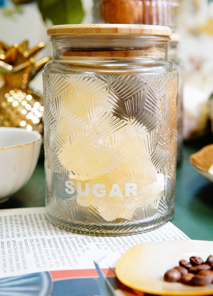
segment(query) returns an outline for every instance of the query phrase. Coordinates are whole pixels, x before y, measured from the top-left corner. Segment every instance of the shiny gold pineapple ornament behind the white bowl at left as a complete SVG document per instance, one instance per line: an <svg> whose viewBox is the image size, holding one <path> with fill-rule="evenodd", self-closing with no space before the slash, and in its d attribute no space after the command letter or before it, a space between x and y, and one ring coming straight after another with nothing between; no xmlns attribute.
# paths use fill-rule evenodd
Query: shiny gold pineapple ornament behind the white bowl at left
<svg viewBox="0 0 213 296"><path fill-rule="evenodd" d="M29 83L50 60L34 59L44 47L44 42L33 48L28 47L28 41L11 47L0 42L0 126L22 127L42 134L42 97Z"/></svg>

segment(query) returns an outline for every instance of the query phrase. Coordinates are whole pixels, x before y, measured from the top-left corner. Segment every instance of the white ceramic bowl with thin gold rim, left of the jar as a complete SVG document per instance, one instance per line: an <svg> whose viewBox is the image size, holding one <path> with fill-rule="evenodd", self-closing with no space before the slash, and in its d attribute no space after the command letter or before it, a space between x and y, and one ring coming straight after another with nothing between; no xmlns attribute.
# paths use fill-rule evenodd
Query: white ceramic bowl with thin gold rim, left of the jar
<svg viewBox="0 0 213 296"><path fill-rule="evenodd" d="M23 128L0 127L0 203L23 187L34 172L41 135Z"/></svg>

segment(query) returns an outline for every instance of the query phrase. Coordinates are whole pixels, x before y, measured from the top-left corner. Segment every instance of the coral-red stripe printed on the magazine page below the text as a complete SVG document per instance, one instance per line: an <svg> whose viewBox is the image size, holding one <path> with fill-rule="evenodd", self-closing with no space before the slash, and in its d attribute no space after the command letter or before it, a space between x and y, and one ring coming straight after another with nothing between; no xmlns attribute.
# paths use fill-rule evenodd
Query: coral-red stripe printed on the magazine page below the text
<svg viewBox="0 0 213 296"><path fill-rule="evenodd" d="M101 269L106 277L114 277L115 273L110 268ZM74 269L74 270L55 270L50 271L53 280L69 278L96 278L98 272L96 269Z"/></svg>

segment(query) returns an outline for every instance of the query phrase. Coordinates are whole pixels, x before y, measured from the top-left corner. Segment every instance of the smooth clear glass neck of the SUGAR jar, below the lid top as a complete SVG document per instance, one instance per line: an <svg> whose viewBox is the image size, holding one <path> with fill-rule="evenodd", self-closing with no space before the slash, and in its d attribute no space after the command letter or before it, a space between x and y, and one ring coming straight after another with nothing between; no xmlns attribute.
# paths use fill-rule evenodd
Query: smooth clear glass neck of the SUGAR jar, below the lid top
<svg viewBox="0 0 213 296"><path fill-rule="evenodd" d="M162 36L52 36L56 60L74 58L147 58L167 60L169 37Z"/></svg>

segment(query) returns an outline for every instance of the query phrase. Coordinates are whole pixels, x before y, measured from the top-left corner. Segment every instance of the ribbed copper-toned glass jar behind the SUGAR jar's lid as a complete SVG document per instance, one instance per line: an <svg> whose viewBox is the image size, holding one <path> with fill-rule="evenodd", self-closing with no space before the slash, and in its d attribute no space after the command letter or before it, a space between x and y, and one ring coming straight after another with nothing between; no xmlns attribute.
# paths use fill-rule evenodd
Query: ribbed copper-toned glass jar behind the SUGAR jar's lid
<svg viewBox="0 0 213 296"><path fill-rule="evenodd" d="M178 0L94 0L93 22L177 27Z"/></svg>

